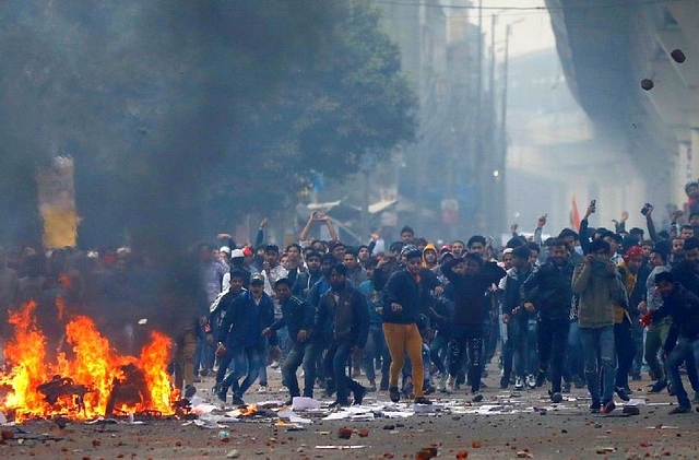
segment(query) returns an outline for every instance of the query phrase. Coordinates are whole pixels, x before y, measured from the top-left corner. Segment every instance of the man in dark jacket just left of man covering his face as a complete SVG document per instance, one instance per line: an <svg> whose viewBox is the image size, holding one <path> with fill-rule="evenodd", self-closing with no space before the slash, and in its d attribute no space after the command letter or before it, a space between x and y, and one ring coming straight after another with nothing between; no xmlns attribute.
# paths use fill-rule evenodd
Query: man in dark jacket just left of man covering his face
<svg viewBox="0 0 699 460"><path fill-rule="evenodd" d="M554 402L562 400L560 380L564 356L570 328L570 306L572 302L572 273L574 267L568 258L566 243L557 239L550 246L550 257L535 268L522 284L524 308L536 311L536 339L538 344L538 374L536 386L544 385L546 370L550 366Z"/></svg>

